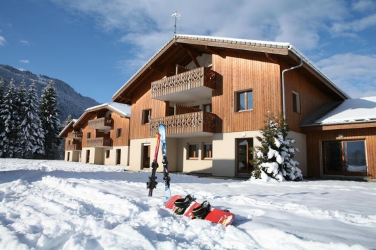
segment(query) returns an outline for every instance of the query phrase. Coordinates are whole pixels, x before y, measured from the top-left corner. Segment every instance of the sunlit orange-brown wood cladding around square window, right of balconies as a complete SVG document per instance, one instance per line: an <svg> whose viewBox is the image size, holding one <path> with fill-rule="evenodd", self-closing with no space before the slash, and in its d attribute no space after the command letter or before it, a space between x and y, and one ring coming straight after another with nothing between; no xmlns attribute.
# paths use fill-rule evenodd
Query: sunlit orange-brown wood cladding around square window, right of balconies
<svg viewBox="0 0 376 250"><path fill-rule="evenodd" d="M212 69L220 76L212 96L212 113L219 123L216 133L263 128L265 114L281 111L279 65L265 54L228 51L212 56ZM235 92L252 90L253 110L235 112Z"/></svg>

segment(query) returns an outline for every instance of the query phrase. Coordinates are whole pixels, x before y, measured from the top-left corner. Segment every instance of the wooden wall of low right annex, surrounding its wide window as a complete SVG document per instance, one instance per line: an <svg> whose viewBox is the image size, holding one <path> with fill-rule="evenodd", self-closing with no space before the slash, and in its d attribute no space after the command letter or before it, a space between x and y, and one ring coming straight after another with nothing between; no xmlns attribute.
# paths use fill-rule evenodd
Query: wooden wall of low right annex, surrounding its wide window
<svg viewBox="0 0 376 250"><path fill-rule="evenodd" d="M366 157L368 165L368 177L376 178L376 128L339 129L333 131L308 131L307 138L307 169L308 176L320 176L321 155L320 144L323 140L338 140L338 134L342 133L341 140L365 140Z"/></svg>

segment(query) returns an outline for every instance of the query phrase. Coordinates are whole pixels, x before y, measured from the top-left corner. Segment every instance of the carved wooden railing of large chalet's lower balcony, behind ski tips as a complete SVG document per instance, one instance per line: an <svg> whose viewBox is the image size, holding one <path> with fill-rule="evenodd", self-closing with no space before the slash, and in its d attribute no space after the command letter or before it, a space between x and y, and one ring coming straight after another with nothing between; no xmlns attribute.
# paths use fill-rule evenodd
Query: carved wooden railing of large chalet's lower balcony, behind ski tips
<svg viewBox="0 0 376 250"><path fill-rule="evenodd" d="M150 136L155 136L158 132L159 124L164 124L166 127L166 135L196 132L214 133L215 115L200 111L151 119Z"/></svg>

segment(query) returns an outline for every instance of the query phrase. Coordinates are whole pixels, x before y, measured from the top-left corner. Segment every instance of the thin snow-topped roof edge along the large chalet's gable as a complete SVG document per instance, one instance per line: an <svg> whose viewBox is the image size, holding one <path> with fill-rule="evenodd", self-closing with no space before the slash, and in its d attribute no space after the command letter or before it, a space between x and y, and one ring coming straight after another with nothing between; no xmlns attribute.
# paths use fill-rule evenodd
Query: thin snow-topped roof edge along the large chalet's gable
<svg viewBox="0 0 376 250"><path fill-rule="evenodd" d="M331 81L331 79L328 76L326 76L323 72L321 72L321 70L311 60L309 60L304 55L304 53L301 53L301 51L296 49L289 42L269 42L269 41L247 40L247 39L239 39L239 38L221 38L221 37L213 37L213 36L206 36L206 35L176 35L175 38L172 38L171 40L179 39L179 38L181 38L181 39L191 39L191 40L204 40L204 41L210 41L210 42L222 42L222 43L228 43L228 44L243 44L243 45L249 45L249 46L255 46L255 47L270 47L270 48L277 48L277 49L288 49L292 53L294 53L295 56L297 56L298 58L301 58L301 60L303 60L304 63L306 63L306 65L308 65L308 67L311 67L315 72L317 72L320 76L322 76L325 80L327 80L328 83L330 85L332 85L336 90L338 90L338 92L343 94L343 96L345 98L351 99L351 97L347 93L343 92L343 90L338 88L338 86L336 84L334 84L334 82ZM130 81L132 81L132 79L134 77L136 77L136 75L139 74L139 72L141 72L141 70L144 67L146 67L146 65L148 65L148 63L150 63L150 61L152 61L153 58L156 58L158 56L158 54L171 42L171 40L169 40L169 42L164 44L164 46L161 49L159 49L159 51L157 51L157 53L155 53L154 56L152 56L126 83L124 83L124 85L121 86L121 88L119 88L118 91L116 91L115 94L113 94L112 98L115 98L116 95L121 90L123 90L123 88L125 88L125 86L128 83L130 83Z"/></svg>

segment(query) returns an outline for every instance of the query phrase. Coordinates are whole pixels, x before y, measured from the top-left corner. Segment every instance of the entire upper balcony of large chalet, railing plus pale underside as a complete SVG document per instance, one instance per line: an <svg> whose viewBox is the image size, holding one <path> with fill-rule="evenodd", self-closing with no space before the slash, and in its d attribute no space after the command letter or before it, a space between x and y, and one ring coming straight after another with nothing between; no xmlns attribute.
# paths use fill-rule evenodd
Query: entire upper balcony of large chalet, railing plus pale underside
<svg viewBox="0 0 376 250"><path fill-rule="evenodd" d="M195 99L212 97L217 72L207 67L191 69L151 83L151 98L161 101L185 103Z"/></svg>

